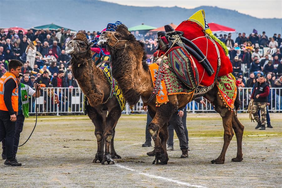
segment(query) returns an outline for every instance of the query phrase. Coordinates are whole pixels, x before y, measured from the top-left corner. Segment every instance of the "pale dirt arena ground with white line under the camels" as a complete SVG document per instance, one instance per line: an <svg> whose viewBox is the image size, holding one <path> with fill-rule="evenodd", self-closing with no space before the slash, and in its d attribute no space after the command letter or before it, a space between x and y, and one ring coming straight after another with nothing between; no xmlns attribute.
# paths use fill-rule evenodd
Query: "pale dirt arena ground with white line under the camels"
<svg viewBox="0 0 282 188"><path fill-rule="evenodd" d="M40 116L31 139L19 148L21 167L0 163L1 187L281 187L282 114L270 114L273 129L255 130L248 114L238 114L245 125L243 161L236 156L233 137L225 164L211 164L223 145L218 114L187 114L189 158L180 159L175 135L168 165L152 165L154 157L142 148L146 115L122 115L115 148L122 159L115 165L94 164L97 142L94 126L84 115ZM26 119L20 144L29 136L35 117ZM153 142L152 142L153 144Z"/></svg>

